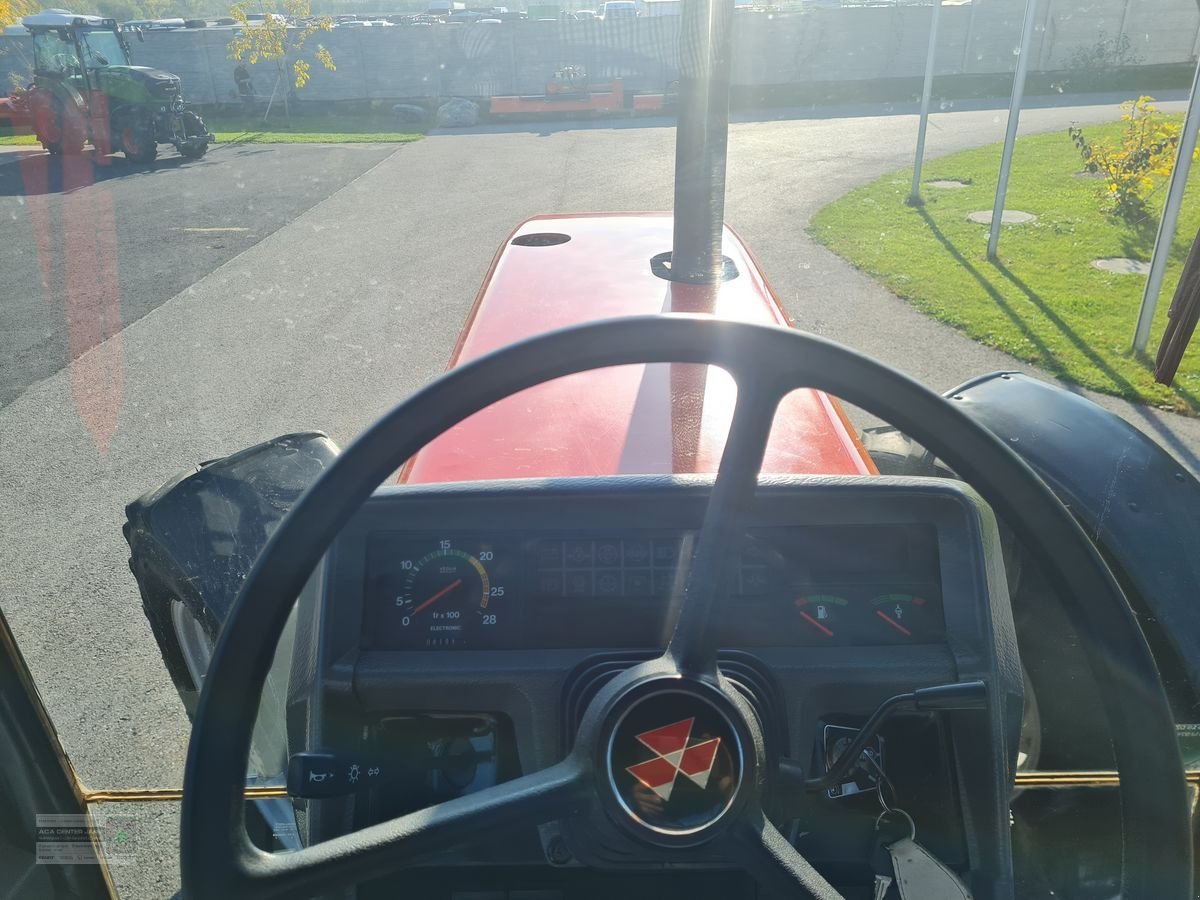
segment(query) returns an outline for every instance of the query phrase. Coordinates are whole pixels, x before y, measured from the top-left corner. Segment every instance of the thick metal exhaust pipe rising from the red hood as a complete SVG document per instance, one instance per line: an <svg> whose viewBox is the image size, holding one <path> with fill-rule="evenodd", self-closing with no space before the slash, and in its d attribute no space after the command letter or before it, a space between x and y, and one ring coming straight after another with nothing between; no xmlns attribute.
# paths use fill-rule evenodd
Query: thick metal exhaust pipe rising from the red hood
<svg viewBox="0 0 1200 900"><path fill-rule="evenodd" d="M725 161L730 138L733 0L684 0L679 23L672 281L710 284L724 272Z"/></svg>

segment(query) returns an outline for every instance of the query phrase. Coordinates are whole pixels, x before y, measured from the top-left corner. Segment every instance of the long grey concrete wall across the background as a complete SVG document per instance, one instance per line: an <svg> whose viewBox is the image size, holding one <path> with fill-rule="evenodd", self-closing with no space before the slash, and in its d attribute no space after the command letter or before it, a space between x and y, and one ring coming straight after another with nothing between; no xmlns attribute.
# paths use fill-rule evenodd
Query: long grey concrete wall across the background
<svg viewBox="0 0 1200 900"><path fill-rule="evenodd" d="M974 0L942 8L938 74L1013 71L1024 0ZM811 10L769 17L738 13L736 85L917 78L924 72L932 7ZM634 90L661 90L677 77L676 17L635 22L512 22L335 29L319 43L336 72L312 61L301 96L392 100L448 95L539 94L556 68L582 65L593 78L622 76ZM230 100L234 62L228 29L155 31L133 42L134 60L178 73L196 103ZM1200 38L1195 0L1042 0L1033 71L1190 62ZM312 38L313 48L318 38ZM28 65L29 38L0 37L0 88ZM275 80L270 64L252 70L259 94Z"/></svg>

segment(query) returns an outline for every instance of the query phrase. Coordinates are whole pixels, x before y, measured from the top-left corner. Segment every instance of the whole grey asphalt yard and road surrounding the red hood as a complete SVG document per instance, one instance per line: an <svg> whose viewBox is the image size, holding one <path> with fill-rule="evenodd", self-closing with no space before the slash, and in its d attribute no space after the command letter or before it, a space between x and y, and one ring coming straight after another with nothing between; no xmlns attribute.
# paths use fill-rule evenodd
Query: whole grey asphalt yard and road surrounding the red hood
<svg viewBox="0 0 1200 900"><path fill-rule="evenodd" d="M1036 109L1022 127L1115 116L1112 106ZM998 110L938 115L929 151L988 144L1003 127ZM803 328L938 390L1026 368L918 314L804 234L823 204L908 163L914 133L912 115L739 122L727 221ZM90 282L64 276L82 307L64 305L59 289L43 299L34 198L17 196L12 166L0 164L0 254L19 253L0 265L6 280L23 280L20 295L6 290L0 304L6 323L19 323L10 310L31 323L13 329L25 362L0 378L0 602L89 785L178 785L186 752L186 718L126 568L124 504L186 466L284 431L348 442L442 371L493 252L522 218L668 208L673 137L666 122L595 122L480 128L403 148L222 149L200 164L53 194L56 209L79 198L121 223L119 316L106 313L121 325L101 329L65 368L65 313L92 308ZM88 246L78 234L90 220L72 221L48 229L55 265L70 241ZM224 246L208 246L216 242ZM101 274L92 293L110 311L113 271ZM13 340L7 328L2 340ZM1194 462L1196 420L1103 402ZM144 862L116 872L125 895L178 887L176 827L172 806L142 814Z"/></svg>

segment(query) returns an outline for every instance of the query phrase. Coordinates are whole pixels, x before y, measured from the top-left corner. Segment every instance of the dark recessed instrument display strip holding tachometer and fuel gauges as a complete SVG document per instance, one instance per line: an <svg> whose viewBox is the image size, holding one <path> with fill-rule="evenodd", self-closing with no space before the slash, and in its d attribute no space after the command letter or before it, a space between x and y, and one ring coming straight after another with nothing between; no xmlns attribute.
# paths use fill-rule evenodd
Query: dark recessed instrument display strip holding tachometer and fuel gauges
<svg viewBox="0 0 1200 900"><path fill-rule="evenodd" d="M378 650L660 647L694 532L374 532L362 646ZM720 610L730 647L938 643L931 524L754 528Z"/></svg>

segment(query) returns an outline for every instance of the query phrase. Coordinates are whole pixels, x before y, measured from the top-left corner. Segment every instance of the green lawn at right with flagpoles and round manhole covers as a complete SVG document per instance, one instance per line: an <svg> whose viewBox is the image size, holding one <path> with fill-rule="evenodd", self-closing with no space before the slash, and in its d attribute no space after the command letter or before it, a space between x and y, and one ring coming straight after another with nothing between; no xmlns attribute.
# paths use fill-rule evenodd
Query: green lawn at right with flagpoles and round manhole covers
<svg viewBox="0 0 1200 900"><path fill-rule="evenodd" d="M1116 140L1120 128L1094 126L1084 133ZM1200 413L1200 342L1184 355L1175 388L1156 384L1153 376L1166 308L1200 228L1200 164L1193 166L1146 358L1129 349L1145 276L1110 275L1091 263L1104 257L1148 262L1156 224L1134 232L1099 211L1105 182L1078 176L1079 151L1066 130L1021 138L1006 206L1038 220L1004 226L1000 258L988 262L988 226L968 222L967 214L991 209L1000 154L997 144L928 162L926 181L968 186L924 185L925 204L918 208L905 203L912 169L884 175L822 209L809 233L922 312L976 341L1087 388ZM1164 186L1152 203L1160 205L1165 196Z"/></svg>

